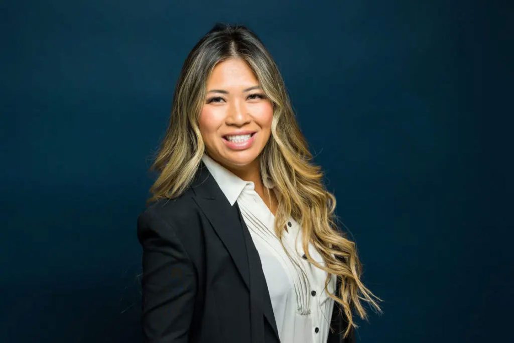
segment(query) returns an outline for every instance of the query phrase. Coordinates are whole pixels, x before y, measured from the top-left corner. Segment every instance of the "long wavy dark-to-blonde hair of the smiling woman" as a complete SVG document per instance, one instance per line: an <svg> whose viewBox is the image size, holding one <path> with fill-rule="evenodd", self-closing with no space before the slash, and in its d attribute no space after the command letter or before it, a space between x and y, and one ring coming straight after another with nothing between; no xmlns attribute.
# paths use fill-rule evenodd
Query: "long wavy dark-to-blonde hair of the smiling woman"
<svg viewBox="0 0 514 343"><path fill-rule="evenodd" d="M246 61L273 104L271 136L259 155L259 166L262 177L271 178L280 197L274 230L282 238L289 216L299 223L307 260L329 273L325 292L342 305L348 321L346 338L351 327L359 327L353 319L353 309L368 320L361 300L380 313L377 301L383 300L362 283L356 244L336 224L336 198L325 189L324 174L312 162L278 67L261 40L246 26L216 23L189 53L176 83L166 134L153 156L150 170L157 171L158 176L147 203L180 196L191 185L205 151L198 117L205 102L207 80L216 64L229 58ZM269 197L269 189L264 189ZM324 266L310 256L309 241L320 252ZM283 246L281 239L280 242ZM341 280L336 294L327 291L330 274Z"/></svg>

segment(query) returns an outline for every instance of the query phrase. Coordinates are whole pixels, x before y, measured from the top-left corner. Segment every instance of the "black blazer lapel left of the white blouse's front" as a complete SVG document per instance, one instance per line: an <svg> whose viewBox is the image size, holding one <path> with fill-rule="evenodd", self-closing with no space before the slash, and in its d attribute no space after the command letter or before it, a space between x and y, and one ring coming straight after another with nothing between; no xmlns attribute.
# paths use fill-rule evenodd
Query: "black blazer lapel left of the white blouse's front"
<svg viewBox="0 0 514 343"><path fill-rule="evenodd" d="M203 161L200 161L191 188L195 193L193 200L223 241L250 293L252 342L264 341L263 315L280 341L259 254L237 202L230 206Z"/></svg>

